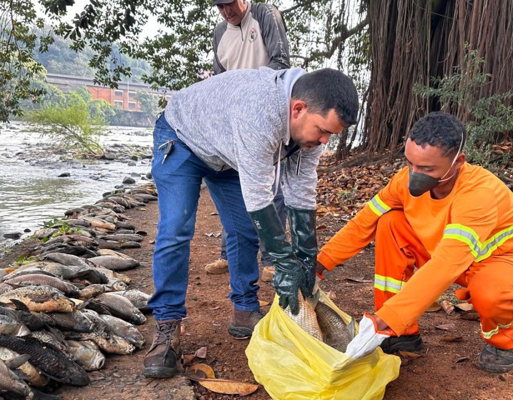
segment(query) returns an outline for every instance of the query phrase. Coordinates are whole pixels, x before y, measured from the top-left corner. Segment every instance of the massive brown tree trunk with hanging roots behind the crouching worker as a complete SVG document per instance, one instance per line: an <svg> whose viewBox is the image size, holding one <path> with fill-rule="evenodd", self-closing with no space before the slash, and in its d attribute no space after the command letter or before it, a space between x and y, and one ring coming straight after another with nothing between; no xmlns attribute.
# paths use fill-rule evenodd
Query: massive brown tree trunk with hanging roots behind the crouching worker
<svg viewBox="0 0 513 400"><path fill-rule="evenodd" d="M429 77L451 75L465 66L465 44L478 50L492 74L465 101L513 88L513 0L370 1L371 77L363 145L370 152L394 149L417 119L440 108L413 94ZM463 109L446 110L464 122Z"/></svg>

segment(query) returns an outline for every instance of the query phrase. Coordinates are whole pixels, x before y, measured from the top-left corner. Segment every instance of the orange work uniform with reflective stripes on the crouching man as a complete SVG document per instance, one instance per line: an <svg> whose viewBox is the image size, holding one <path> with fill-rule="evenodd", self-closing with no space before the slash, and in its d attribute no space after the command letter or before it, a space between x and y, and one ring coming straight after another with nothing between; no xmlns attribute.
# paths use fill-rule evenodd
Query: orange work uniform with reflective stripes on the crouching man
<svg viewBox="0 0 513 400"><path fill-rule="evenodd" d="M394 333L417 333L420 315L456 282L483 339L513 348L513 193L495 175L465 163L450 194L433 199L409 194L405 167L317 259L331 270L374 236L376 314Z"/></svg>

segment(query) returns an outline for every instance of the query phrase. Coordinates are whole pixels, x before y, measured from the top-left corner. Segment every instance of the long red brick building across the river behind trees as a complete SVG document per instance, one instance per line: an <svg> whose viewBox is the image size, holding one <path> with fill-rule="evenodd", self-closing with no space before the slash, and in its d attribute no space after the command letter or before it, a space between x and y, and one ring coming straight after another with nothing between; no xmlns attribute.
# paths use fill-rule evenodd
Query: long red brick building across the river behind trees
<svg viewBox="0 0 513 400"><path fill-rule="evenodd" d="M153 93L161 97L164 95L163 92L156 92L145 83L118 82L118 89L111 89L96 85L92 78L75 75L47 73L46 82L58 87L63 92L85 87L91 93L94 100L105 100L125 111L140 111L141 105L135 99L137 92ZM167 100L170 98L171 95L166 95Z"/></svg>

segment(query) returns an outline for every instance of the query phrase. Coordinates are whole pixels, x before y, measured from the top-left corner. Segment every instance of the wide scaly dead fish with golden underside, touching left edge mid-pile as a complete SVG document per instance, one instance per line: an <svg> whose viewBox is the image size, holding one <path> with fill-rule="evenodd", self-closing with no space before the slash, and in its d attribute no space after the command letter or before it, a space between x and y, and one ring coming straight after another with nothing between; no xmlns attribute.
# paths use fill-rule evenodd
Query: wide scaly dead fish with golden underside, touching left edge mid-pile
<svg viewBox="0 0 513 400"><path fill-rule="evenodd" d="M24 303L30 311L72 312L75 305L64 293L51 286L24 286L0 296L0 302L13 304L12 299Z"/></svg>

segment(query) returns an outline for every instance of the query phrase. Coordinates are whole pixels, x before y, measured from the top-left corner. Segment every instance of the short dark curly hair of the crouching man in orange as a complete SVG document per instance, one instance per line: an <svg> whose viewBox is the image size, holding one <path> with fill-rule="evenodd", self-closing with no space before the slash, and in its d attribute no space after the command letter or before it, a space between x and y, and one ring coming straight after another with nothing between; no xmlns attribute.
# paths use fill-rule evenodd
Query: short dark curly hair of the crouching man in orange
<svg viewBox="0 0 513 400"><path fill-rule="evenodd" d="M420 146L429 144L442 150L444 156L455 156L460 148L461 137L465 145L466 130L461 121L441 111L432 112L419 119L411 128L410 139Z"/></svg>

